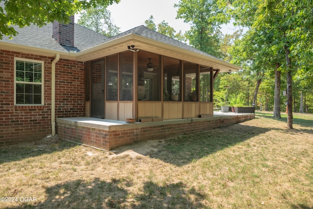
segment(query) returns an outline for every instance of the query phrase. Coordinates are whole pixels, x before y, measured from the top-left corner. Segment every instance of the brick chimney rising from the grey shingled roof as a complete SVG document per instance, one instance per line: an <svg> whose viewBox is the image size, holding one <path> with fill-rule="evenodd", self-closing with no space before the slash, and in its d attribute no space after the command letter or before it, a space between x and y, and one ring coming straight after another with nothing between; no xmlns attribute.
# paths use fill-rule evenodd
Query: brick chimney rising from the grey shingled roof
<svg viewBox="0 0 313 209"><path fill-rule="evenodd" d="M52 38L60 45L74 46L74 15L71 16L68 24L53 22Z"/></svg>

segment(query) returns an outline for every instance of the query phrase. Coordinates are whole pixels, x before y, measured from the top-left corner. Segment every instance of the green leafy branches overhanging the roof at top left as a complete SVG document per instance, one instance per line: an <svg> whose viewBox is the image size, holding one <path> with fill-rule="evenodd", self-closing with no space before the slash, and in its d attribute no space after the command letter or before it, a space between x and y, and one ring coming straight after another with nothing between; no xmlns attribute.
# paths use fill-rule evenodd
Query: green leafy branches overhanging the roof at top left
<svg viewBox="0 0 313 209"><path fill-rule="evenodd" d="M35 24L39 27L55 20L68 23L69 17L96 4L107 7L120 0L1 0L0 39L12 38L18 33L11 25L19 27Z"/></svg>

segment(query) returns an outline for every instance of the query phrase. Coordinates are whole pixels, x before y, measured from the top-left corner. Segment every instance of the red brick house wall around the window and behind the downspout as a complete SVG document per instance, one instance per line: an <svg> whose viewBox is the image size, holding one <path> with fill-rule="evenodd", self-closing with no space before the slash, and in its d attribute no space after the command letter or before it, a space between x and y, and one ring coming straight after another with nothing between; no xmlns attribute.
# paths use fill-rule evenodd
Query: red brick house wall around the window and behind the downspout
<svg viewBox="0 0 313 209"><path fill-rule="evenodd" d="M43 106L14 106L14 57L45 61ZM46 57L0 50L0 145L38 140L51 133L51 61ZM56 64L56 117L84 116L84 64Z"/></svg>

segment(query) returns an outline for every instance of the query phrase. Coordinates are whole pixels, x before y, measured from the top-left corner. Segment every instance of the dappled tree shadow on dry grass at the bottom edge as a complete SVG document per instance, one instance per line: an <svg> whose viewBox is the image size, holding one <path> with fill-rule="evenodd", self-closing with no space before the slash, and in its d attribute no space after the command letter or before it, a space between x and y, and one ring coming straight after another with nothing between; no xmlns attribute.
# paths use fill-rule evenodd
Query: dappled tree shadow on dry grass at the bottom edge
<svg viewBox="0 0 313 209"><path fill-rule="evenodd" d="M76 180L47 187L45 202L38 205L25 203L19 209L203 208L200 203L203 195L194 189L186 190L181 182L165 186L144 182L140 194L130 194L127 190L130 186L133 182L125 179L112 178L110 182L99 178L93 181Z"/></svg>

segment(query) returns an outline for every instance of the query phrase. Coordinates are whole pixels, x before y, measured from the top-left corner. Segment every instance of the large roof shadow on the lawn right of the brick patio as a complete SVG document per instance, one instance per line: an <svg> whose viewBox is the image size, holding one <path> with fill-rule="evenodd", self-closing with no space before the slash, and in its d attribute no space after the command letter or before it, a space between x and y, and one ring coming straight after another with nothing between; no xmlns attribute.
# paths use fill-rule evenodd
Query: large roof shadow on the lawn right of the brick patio
<svg viewBox="0 0 313 209"><path fill-rule="evenodd" d="M268 128L234 124L167 139L165 143L156 145L157 151L151 151L147 155L181 166L268 131Z"/></svg>

